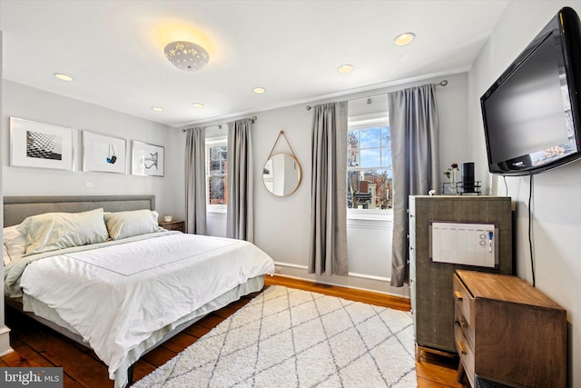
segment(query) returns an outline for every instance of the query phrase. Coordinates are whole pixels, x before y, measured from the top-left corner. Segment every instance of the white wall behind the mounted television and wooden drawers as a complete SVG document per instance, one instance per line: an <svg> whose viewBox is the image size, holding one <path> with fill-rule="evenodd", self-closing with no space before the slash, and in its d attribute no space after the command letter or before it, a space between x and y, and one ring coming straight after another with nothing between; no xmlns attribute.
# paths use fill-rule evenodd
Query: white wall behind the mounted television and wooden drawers
<svg viewBox="0 0 581 388"><path fill-rule="evenodd" d="M479 98L562 6L581 15L580 1L512 1L468 74L470 154L477 172L487 174L486 145ZM537 289L567 310L568 385L581 386L581 162L534 177L533 244ZM517 206L515 236L517 275L532 283L528 253L528 177L508 177L507 190L496 176L495 194L508 194Z"/></svg>

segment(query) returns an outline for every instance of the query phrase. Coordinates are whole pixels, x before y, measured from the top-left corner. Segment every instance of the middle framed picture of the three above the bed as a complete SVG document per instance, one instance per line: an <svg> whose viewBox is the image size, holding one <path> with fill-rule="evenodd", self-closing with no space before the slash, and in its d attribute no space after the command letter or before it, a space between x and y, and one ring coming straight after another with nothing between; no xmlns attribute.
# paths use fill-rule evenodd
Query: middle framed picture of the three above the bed
<svg viewBox="0 0 581 388"><path fill-rule="evenodd" d="M126 141L83 131L83 171L125 174Z"/></svg>

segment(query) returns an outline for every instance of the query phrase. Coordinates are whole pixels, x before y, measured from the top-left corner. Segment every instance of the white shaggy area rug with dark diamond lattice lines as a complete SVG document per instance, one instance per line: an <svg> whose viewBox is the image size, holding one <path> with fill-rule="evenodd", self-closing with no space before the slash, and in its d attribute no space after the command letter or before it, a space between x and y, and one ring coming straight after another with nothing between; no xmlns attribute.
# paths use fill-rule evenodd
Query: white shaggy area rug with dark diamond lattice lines
<svg viewBox="0 0 581 388"><path fill-rule="evenodd" d="M272 285L133 387L415 387L409 312Z"/></svg>

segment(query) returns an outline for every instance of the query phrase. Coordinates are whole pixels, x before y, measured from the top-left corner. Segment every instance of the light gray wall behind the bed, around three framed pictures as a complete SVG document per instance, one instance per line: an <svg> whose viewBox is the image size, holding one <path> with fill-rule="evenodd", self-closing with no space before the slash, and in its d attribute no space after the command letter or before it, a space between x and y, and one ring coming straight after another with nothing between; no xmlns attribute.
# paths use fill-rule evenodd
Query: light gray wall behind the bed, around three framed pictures
<svg viewBox="0 0 581 388"><path fill-rule="evenodd" d="M160 214L183 214L183 195L176 197L176 180L182 180L181 160L175 157L177 129L82 101L54 95L29 86L4 81L2 111L2 165L4 195L104 195L154 194ZM19 117L74 129L74 171L12 167L9 164L9 121ZM127 140L128 174L83 171L82 131L110 134ZM131 173L131 142L139 140L164 146L164 177ZM85 187L92 183L92 188ZM177 198L181 198L181 201Z"/></svg>

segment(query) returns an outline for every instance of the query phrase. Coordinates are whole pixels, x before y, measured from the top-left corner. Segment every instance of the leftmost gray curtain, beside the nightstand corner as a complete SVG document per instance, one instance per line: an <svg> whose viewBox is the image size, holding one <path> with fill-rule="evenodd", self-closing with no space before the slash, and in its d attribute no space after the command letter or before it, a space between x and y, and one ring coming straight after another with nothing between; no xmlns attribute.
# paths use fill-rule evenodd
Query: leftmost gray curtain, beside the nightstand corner
<svg viewBox="0 0 581 388"><path fill-rule="evenodd" d="M206 130L189 128L185 137L185 232L206 234Z"/></svg>

